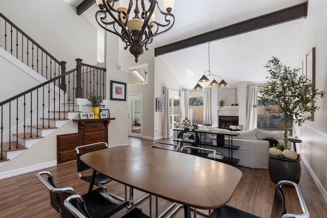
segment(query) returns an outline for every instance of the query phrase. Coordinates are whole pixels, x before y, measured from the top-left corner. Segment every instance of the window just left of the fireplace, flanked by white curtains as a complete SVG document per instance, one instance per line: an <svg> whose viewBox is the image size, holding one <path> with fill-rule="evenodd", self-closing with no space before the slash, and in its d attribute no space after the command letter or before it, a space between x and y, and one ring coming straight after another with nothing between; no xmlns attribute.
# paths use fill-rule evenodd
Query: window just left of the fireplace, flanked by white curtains
<svg viewBox="0 0 327 218"><path fill-rule="evenodd" d="M203 97L190 98L190 114L192 124L203 124Z"/></svg>

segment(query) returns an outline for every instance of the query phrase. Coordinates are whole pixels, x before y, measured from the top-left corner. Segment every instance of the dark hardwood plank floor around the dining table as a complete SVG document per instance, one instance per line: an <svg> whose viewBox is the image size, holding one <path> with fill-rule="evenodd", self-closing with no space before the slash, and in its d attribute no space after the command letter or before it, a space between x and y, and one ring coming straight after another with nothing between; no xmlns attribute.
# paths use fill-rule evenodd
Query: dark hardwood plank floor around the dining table
<svg viewBox="0 0 327 218"><path fill-rule="evenodd" d="M172 139L158 141L172 142ZM153 142L152 140L129 138L130 144L142 143L145 146L152 146ZM243 172L243 176L228 204L261 217L270 217L274 183L269 178L268 170L236 167ZM299 185L308 206L310 217L327 217L326 202L303 163L301 163L301 167L302 174ZM71 186L77 193L87 191L88 183L77 176L76 161L45 168L44 170L53 174L58 187ZM58 217L58 213L50 206L48 190L35 178L37 172L39 171L0 180L0 217ZM106 187L110 192L124 196L124 186L122 184L111 181ZM294 189L284 188L284 191L287 202L291 202L287 204L288 212L296 213L300 207L296 203L298 200ZM135 190L134 192L135 199L143 195L144 193L141 191ZM152 202L152 216L154 217L154 197ZM159 212L164 211L170 204L171 202L160 199ZM149 214L149 199L137 206L141 206L143 211ZM121 217L126 211L127 209L113 217ZM180 209L174 217L183 217L183 210ZM198 214L197 217L205 216Z"/></svg>

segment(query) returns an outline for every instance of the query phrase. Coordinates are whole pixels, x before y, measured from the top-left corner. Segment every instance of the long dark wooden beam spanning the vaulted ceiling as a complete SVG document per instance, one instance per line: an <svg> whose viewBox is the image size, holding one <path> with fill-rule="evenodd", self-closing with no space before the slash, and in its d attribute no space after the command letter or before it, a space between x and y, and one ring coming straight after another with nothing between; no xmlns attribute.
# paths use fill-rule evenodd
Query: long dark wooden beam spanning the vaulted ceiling
<svg viewBox="0 0 327 218"><path fill-rule="evenodd" d="M154 55L159 56L170 52L175 52L187 47L192 47L208 41L215 41L254 30L259 30L291 20L307 17L308 3L302 3L290 8L272 12L263 16L235 23L211 32L203 33L194 37L173 42L164 46L156 47Z"/></svg>

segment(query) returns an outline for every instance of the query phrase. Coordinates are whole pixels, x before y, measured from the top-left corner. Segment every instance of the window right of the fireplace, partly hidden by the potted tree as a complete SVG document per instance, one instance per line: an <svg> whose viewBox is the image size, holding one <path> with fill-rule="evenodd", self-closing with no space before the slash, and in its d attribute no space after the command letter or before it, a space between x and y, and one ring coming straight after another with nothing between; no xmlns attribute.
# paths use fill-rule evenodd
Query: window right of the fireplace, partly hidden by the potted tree
<svg viewBox="0 0 327 218"><path fill-rule="evenodd" d="M259 93L260 95L260 93ZM274 102L271 102L270 107L278 107ZM277 117L274 117L277 116ZM284 131L284 115L283 114L270 114L266 111L265 107L262 106L260 96L258 96L258 121L256 126L258 129L267 131ZM289 120L287 124L287 130L290 131L292 136L293 123Z"/></svg>

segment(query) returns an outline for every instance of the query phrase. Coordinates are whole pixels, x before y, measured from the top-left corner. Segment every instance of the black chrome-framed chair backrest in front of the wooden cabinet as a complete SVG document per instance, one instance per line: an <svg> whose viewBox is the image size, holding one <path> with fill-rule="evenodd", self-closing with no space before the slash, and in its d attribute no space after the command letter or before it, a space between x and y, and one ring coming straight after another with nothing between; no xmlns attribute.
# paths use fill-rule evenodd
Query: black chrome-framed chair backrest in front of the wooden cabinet
<svg viewBox="0 0 327 218"><path fill-rule="evenodd" d="M83 161L80 160L81 155L88 153L88 152L94 152L94 151L98 151L101 149L107 149L107 148L108 148L108 144L106 142L97 142L97 143L85 144L84 146L76 147L75 151L76 151L78 176L81 177L81 172L90 168L85 163L83 163Z"/></svg>

